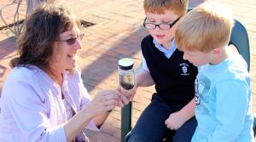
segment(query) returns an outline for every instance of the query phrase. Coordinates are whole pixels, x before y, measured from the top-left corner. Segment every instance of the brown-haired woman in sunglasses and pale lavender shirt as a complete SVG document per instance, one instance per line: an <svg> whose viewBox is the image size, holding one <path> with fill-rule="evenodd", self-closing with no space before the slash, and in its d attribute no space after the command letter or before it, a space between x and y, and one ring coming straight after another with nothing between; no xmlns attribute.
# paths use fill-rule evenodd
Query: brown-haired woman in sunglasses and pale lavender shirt
<svg viewBox="0 0 256 142"><path fill-rule="evenodd" d="M90 100L77 65L82 37L75 16L55 3L27 17L3 85L0 141L88 141L82 129L106 120L118 95L107 90Z"/></svg>

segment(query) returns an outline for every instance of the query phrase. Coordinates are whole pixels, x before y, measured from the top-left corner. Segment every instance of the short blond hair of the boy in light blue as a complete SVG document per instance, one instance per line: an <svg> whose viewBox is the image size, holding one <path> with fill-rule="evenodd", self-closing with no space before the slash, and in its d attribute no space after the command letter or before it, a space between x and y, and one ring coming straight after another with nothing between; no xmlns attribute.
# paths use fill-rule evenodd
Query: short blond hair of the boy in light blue
<svg viewBox="0 0 256 142"><path fill-rule="evenodd" d="M218 3L202 3L180 21L175 32L177 48L181 51L209 52L224 48L230 41L234 20L230 12Z"/></svg>

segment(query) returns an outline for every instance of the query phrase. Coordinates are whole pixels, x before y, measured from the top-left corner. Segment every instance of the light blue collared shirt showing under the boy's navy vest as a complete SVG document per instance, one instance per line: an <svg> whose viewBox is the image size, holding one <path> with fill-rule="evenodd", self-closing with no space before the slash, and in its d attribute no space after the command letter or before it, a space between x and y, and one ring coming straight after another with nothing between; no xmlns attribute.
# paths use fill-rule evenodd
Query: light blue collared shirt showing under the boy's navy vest
<svg viewBox="0 0 256 142"><path fill-rule="evenodd" d="M165 54L167 59L170 59L172 54L174 53L174 51L177 49L174 40L172 40L172 44L169 49L164 48L160 43L157 43L155 40L153 40L153 43L154 43L155 48L159 49L163 54ZM148 71L148 73L149 73L150 71L148 70L148 65L147 65L147 62L146 62L144 56L143 56L142 60L143 60L143 69L145 71Z"/></svg>

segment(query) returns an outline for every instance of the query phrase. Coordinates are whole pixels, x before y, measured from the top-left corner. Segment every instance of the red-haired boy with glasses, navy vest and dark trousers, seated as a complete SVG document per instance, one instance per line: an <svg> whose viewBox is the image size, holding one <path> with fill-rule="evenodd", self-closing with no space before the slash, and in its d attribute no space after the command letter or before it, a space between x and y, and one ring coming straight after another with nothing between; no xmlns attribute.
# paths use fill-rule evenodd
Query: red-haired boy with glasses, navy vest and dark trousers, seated
<svg viewBox="0 0 256 142"><path fill-rule="evenodd" d="M156 92L126 136L127 142L158 142L166 137L173 142L189 142L195 132L193 98L197 68L183 60L183 53L173 40L188 3L188 0L144 0L143 26L150 35L141 44L143 69L135 77L135 87L124 95L132 99L137 87L152 85Z"/></svg>

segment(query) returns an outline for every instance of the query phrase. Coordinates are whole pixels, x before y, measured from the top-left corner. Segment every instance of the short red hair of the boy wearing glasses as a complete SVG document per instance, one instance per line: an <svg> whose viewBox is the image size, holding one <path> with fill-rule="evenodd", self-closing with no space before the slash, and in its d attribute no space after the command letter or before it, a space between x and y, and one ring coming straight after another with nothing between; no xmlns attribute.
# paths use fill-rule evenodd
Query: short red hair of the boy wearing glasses
<svg viewBox="0 0 256 142"><path fill-rule="evenodd" d="M187 12L189 0L144 0L145 13L164 14L165 10L172 10L177 15Z"/></svg>

